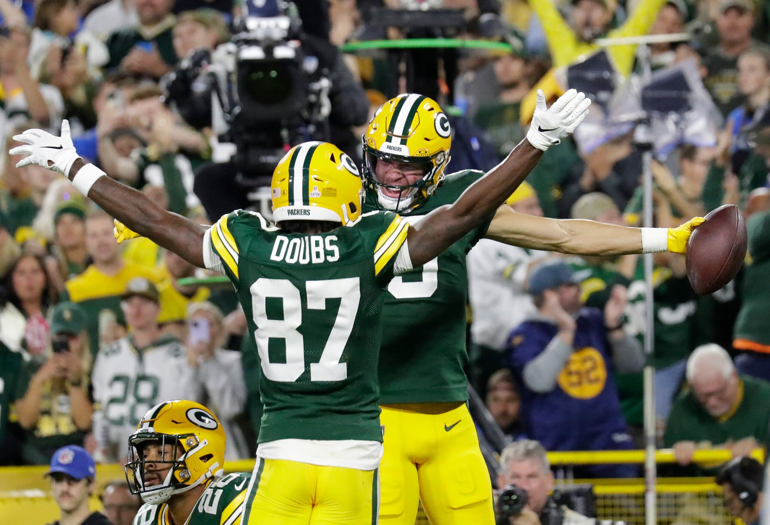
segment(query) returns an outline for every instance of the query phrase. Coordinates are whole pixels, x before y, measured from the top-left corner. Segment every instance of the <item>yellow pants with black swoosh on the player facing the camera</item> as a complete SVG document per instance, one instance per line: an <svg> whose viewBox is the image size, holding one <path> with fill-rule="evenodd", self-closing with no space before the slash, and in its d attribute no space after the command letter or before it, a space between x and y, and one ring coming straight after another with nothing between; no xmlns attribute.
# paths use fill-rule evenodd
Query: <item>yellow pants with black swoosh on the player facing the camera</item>
<svg viewBox="0 0 770 525"><path fill-rule="evenodd" d="M382 406L381 525L493 525L492 484L464 403Z"/></svg>

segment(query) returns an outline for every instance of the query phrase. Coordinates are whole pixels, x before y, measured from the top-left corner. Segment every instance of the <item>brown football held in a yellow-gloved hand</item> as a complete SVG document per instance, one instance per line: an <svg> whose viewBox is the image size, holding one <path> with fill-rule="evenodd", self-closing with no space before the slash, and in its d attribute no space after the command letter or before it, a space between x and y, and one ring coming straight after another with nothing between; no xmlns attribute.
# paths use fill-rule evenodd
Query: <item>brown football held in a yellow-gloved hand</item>
<svg viewBox="0 0 770 525"><path fill-rule="evenodd" d="M738 206L725 204L709 213L687 242L687 276L698 295L729 283L746 256L746 223Z"/></svg>

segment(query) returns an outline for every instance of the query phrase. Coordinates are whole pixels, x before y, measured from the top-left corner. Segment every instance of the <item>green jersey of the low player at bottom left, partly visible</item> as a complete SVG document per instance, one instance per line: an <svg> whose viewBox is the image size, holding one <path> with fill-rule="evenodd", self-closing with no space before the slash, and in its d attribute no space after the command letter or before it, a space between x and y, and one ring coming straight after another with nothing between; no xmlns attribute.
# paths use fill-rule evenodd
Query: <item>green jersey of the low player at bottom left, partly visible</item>
<svg viewBox="0 0 770 525"><path fill-rule="evenodd" d="M243 500L251 480L250 472L237 472L219 478L203 491L185 525L240 525ZM145 503L134 517L133 525L170 525L169 505Z"/></svg>

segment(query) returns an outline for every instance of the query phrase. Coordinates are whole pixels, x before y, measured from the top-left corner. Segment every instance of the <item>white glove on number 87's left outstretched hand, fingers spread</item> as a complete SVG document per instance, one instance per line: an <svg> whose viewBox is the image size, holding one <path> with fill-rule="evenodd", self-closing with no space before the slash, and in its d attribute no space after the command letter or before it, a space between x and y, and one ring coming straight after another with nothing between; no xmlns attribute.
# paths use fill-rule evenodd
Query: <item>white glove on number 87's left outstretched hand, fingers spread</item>
<svg viewBox="0 0 770 525"><path fill-rule="evenodd" d="M69 122L62 121L62 136L57 137L42 129L28 129L21 135L14 135L14 140L24 142L12 149L11 155L28 155L18 161L17 168L37 164L52 172L59 172L63 176L69 176L72 163L79 158L72 139L69 136Z"/></svg>

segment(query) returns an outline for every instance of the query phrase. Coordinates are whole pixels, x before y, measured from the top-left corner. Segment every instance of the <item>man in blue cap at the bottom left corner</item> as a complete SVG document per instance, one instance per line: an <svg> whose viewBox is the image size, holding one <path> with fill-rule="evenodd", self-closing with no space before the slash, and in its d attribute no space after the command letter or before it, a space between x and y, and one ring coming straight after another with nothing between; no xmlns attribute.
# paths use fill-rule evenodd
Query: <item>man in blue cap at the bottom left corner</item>
<svg viewBox="0 0 770 525"><path fill-rule="evenodd" d="M94 460L80 446L64 446L51 458L51 492L62 517L53 525L112 525L99 512L92 513L89 497L95 487Z"/></svg>

